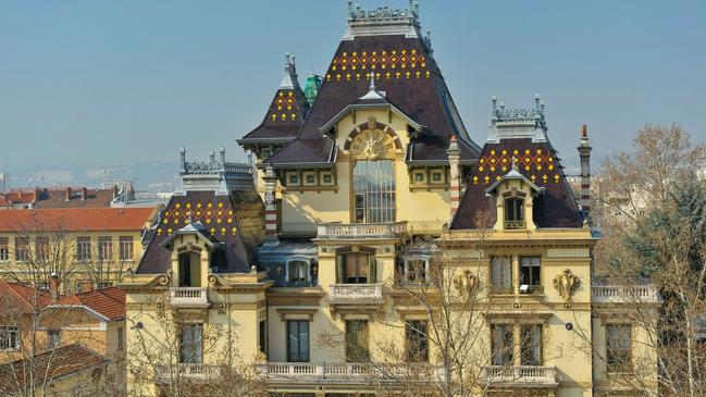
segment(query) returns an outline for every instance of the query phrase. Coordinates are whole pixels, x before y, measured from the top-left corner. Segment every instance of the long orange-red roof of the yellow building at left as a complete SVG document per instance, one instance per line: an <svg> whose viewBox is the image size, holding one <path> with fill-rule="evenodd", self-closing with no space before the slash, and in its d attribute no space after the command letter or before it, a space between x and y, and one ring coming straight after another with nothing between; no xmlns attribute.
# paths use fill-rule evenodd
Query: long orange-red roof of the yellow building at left
<svg viewBox="0 0 706 397"><path fill-rule="evenodd" d="M157 208L96 208L2 210L0 232L139 231Z"/></svg>

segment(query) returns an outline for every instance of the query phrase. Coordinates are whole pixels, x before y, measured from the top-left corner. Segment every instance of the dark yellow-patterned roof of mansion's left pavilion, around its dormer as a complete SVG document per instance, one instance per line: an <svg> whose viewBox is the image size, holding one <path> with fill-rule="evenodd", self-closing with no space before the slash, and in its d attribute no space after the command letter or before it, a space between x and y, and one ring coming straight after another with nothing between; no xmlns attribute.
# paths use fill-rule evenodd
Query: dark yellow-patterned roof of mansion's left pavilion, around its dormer
<svg viewBox="0 0 706 397"><path fill-rule="evenodd" d="M264 239L264 206L255 191L187 191L174 195L160 213L137 273L160 274L171 268L169 250L162 243L190 222L200 222L208 238L219 245L211 258L219 273L245 273L257 264L255 249Z"/></svg>

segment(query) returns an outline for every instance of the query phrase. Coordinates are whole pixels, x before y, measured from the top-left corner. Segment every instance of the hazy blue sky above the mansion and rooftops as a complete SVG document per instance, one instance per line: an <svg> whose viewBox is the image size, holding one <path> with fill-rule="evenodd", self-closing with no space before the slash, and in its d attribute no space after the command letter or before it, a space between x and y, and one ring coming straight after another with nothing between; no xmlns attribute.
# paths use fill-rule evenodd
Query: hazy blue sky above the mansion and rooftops
<svg viewBox="0 0 706 397"><path fill-rule="evenodd" d="M479 144L493 95L534 94L569 166L582 123L598 156L645 123L706 140L706 1L422 0L421 18ZM243 159L283 54L323 73L345 20L345 0L0 0L0 165Z"/></svg>

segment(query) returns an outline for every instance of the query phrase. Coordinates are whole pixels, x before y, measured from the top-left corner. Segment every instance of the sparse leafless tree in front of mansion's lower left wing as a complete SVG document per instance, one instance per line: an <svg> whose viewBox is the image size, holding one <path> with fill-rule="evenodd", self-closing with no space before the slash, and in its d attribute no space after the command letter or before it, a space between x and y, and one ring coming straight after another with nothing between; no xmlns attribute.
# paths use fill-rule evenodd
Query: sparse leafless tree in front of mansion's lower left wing
<svg viewBox="0 0 706 397"><path fill-rule="evenodd" d="M166 295L140 303L129 326L131 396L264 396L252 360L240 357L234 327L194 323L170 307Z"/></svg>

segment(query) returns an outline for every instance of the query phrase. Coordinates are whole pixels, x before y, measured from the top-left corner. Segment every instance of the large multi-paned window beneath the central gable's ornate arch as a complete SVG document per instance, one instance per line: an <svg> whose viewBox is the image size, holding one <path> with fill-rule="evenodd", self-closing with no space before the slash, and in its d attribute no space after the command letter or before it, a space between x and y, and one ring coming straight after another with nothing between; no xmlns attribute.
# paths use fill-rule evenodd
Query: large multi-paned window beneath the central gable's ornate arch
<svg viewBox="0 0 706 397"><path fill-rule="evenodd" d="M354 169L354 221L395 222L395 168L392 160L359 160Z"/></svg>

